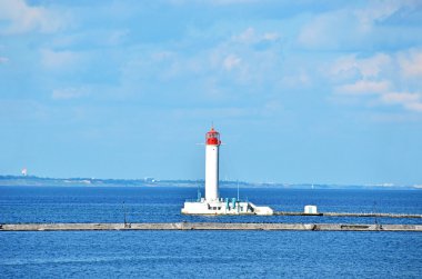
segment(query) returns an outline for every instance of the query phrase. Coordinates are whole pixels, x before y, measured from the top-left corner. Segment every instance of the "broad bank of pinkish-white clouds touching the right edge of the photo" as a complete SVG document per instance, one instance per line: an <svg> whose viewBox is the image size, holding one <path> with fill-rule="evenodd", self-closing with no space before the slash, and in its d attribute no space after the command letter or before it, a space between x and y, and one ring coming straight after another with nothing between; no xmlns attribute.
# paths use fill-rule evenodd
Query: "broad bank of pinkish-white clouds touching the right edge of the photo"
<svg viewBox="0 0 422 279"><path fill-rule="evenodd" d="M418 83L422 77L421 64L422 52L418 50L390 56L376 53L365 59L353 54L334 61L328 72L335 84L333 91L344 99L353 96L371 107L401 106L408 111L422 112L422 94Z"/></svg>

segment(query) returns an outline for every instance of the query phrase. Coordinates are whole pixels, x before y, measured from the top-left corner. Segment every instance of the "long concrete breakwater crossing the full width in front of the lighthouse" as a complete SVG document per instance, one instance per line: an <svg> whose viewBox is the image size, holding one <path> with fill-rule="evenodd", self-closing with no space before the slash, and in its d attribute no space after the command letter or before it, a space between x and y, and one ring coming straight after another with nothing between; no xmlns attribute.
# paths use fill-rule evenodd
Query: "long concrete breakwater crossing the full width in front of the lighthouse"
<svg viewBox="0 0 422 279"><path fill-rule="evenodd" d="M298 230L298 231L416 231L422 225L361 223L4 223L0 231L80 231L80 230Z"/></svg>

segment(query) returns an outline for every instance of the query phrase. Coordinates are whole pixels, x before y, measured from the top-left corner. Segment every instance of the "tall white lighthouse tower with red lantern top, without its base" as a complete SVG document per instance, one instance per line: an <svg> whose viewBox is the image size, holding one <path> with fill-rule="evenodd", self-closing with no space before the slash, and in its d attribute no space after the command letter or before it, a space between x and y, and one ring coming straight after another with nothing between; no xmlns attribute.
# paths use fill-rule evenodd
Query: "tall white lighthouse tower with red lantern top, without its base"
<svg viewBox="0 0 422 279"><path fill-rule="evenodd" d="M219 149L220 133L211 128L205 134L205 200L219 199Z"/></svg>

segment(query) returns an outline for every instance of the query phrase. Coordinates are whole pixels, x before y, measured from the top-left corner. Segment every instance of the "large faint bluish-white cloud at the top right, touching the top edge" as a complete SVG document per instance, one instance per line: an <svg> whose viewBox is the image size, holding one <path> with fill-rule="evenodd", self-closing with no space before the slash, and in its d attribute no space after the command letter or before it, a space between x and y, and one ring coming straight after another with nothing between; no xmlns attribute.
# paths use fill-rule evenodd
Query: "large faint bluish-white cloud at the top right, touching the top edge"
<svg viewBox="0 0 422 279"><path fill-rule="evenodd" d="M420 1L419 1L420 2ZM298 42L305 48L322 49L363 49L372 47L371 42L391 42L400 40L400 29L392 29L394 39L383 37L385 29L380 24L398 13L402 8L418 6L413 0L364 1L364 7L332 10L316 13L304 24L298 36ZM394 23L393 23L394 24ZM402 26L401 26L402 27ZM395 27L394 27L395 28ZM414 38L414 36L413 36Z"/></svg>

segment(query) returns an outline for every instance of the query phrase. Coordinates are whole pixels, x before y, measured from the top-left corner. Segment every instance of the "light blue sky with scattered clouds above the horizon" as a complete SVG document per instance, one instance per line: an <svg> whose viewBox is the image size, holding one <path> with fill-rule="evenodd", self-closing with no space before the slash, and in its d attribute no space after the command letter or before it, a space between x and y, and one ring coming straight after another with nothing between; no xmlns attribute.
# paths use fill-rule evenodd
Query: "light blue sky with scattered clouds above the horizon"
<svg viewBox="0 0 422 279"><path fill-rule="evenodd" d="M422 1L0 0L0 175L422 185Z"/></svg>

